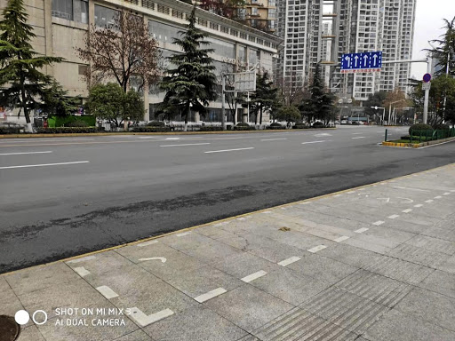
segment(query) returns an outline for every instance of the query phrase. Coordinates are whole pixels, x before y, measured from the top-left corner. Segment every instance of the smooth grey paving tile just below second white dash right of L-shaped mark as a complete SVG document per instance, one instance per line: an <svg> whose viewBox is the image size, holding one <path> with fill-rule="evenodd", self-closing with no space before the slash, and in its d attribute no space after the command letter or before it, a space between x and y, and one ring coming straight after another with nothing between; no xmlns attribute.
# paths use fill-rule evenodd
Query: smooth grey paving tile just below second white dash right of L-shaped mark
<svg viewBox="0 0 455 341"><path fill-rule="evenodd" d="M249 284L212 298L204 305L248 332L293 308L293 305Z"/></svg>

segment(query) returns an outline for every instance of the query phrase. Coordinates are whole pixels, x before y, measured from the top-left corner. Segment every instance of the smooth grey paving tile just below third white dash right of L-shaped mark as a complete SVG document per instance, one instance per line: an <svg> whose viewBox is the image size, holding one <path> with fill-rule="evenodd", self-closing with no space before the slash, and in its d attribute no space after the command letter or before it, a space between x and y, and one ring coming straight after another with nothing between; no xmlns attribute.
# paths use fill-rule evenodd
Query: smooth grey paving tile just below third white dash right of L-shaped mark
<svg viewBox="0 0 455 341"><path fill-rule="evenodd" d="M291 305L299 305L330 286L305 274L295 274L286 268L279 269L251 282L251 285L283 299Z"/></svg>

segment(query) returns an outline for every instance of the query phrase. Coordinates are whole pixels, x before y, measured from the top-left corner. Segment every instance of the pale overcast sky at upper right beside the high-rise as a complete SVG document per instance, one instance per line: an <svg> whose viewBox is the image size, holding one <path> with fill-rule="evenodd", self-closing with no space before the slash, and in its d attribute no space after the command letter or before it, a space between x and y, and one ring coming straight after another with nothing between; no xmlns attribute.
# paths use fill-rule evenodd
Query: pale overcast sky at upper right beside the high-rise
<svg viewBox="0 0 455 341"><path fill-rule="evenodd" d="M455 16L455 0L417 0L414 50L412 59L424 59L423 49L430 48L428 40L443 34L443 18L451 20ZM411 75L421 78L427 72L427 64L413 63Z"/></svg>

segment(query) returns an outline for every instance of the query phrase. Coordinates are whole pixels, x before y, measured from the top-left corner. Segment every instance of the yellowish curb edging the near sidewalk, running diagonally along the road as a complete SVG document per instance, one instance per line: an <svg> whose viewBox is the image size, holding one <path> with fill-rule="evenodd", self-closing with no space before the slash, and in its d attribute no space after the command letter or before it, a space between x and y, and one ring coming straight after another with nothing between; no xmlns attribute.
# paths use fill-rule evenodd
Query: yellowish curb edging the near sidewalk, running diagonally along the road
<svg viewBox="0 0 455 341"><path fill-rule="evenodd" d="M204 223L204 224L201 224L201 225L196 225L196 226L190 226L190 227L187 227L187 228L182 228L180 230L172 231L172 232L169 232L169 233L166 233L166 234L158 234L158 235L154 235L154 236L151 236L151 237L148 237L148 238L143 238L143 239L140 239L140 240L137 240L137 241L134 241L134 242L125 242L124 244L112 246L110 248L106 248L106 249L102 249L102 250L96 250L96 251L92 251L92 252L87 252L87 253L84 253L82 255L73 256L73 257L70 257L70 258L62 258L62 259L59 259L59 260L55 260L53 262L44 263L44 264L40 264L40 265L37 265L37 266L29 266L29 267L26 267L26 268L23 268L23 269L13 270L13 271L8 272L8 273L0 274L0 277L4 276L4 275L9 275L9 274L15 274L15 273L18 273L20 271L26 271L26 270L33 269L33 268L36 268L36 267L50 266L52 264L57 264L57 263L65 263L65 262L68 262L70 260L74 260L74 259L78 259L78 258L84 258L84 257L91 256L91 255L96 255L96 254L101 253L101 252L106 252L106 251L109 251L109 250L121 249L121 248L124 248L125 246L136 245L136 244L139 244L141 242L153 241L155 239L162 238L162 237L165 237L167 235L181 234L181 233L186 232L186 231L195 230L196 228L199 228L199 227L210 226L210 225L213 225L213 224L219 224L219 223L222 223L224 221L228 221L228 220L232 220L232 219L236 219L236 218L248 217L248 216L251 216L253 214L264 212L264 211L267 211L267 210L274 210L274 209L279 209L279 208L282 208L282 207L288 207L288 206L291 206L291 205L299 204L301 202L313 202L315 200L320 200L320 199L323 199L323 198L331 197L331 196L336 195L336 194L343 194L343 193L347 193L347 192L350 192L350 191L353 191L353 190L355 191L355 190L358 190L358 189L361 189L361 188L367 188L367 187L370 187L370 186L373 186L373 185L387 183L387 182L389 182L391 180L395 180L395 179L398 179L398 178L410 178L410 177L412 177L412 176L414 176L416 174L425 174L425 173L430 172L430 171L440 170L440 169L443 169L443 168L451 168L451 167L455 167L455 163L449 163L449 164L446 164L444 166L432 168L432 169L427 170L427 171L418 171L416 173L403 175L403 176L397 177L397 178L389 178L387 180L373 182L373 183L368 184L368 185L347 188L347 189L344 189L342 191L333 192L333 193L330 193L330 194L318 195L318 196L315 196L313 198L299 200L297 202L288 202L288 203L284 203L283 205L277 205L277 206L273 206L273 207L268 207L268 208L263 209L263 210L253 210L251 212L239 214L239 215L228 217L228 218L223 218L223 219L220 219L220 220L211 221L211 222Z"/></svg>

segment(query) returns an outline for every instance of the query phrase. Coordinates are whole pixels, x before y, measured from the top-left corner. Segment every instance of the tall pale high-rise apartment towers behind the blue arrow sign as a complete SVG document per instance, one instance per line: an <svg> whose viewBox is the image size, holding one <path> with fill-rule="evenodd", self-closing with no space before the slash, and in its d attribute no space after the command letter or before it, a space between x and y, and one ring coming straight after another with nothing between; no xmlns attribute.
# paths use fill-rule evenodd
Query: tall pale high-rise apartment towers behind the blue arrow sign
<svg viewBox="0 0 455 341"><path fill-rule="evenodd" d="M283 49L277 76L296 89L320 62L326 86L366 100L375 91L407 89L410 64L385 64L377 74L341 74L341 54L382 51L383 60L411 59L416 0L283 0L277 34Z"/></svg>

